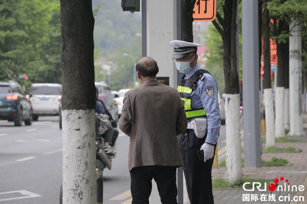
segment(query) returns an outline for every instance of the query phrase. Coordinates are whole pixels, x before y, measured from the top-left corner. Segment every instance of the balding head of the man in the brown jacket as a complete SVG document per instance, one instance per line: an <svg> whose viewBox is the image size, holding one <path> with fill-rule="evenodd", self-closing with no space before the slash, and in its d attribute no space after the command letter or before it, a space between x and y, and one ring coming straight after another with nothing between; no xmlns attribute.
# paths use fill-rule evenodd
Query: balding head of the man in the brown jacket
<svg viewBox="0 0 307 204"><path fill-rule="evenodd" d="M142 57L136 64L136 71L141 76L156 76L159 68L157 62L151 57Z"/></svg>

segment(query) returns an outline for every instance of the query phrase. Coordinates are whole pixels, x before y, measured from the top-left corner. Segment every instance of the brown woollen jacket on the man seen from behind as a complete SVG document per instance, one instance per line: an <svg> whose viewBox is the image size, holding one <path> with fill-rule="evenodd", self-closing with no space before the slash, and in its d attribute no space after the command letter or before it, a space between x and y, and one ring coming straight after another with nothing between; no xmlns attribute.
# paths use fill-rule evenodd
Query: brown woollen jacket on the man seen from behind
<svg viewBox="0 0 307 204"><path fill-rule="evenodd" d="M130 137L128 167L182 166L177 135L188 121L179 92L157 80L126 92L119 128Z"/></svg>

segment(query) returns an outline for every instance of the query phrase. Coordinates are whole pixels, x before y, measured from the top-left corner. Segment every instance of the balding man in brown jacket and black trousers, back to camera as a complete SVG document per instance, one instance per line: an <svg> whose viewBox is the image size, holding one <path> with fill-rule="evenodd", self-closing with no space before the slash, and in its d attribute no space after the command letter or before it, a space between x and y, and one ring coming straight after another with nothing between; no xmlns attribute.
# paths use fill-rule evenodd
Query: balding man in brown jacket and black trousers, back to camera
<svg viewBox="0 0 307 204"><path fill-rule="evenodd" d="M141 58L136 70L143 85L126 92L119 119L119 128L130 137L132 204L149 203L152 179L162 204L176 204L176 168L183 165L177 135L188 125L185 108L179 92L156 79L155 60Z"/></svg>

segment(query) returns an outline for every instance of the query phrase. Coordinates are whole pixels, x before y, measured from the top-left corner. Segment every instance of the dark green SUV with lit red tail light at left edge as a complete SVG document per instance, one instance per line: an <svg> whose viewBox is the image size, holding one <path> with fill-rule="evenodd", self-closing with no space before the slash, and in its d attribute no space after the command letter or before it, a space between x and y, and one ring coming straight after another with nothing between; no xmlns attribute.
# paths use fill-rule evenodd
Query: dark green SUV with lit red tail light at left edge
<svg viewBox="0 0 307 204"><path fill-rule="evenodd" d="M15 81L0 82L0 120L14 121L15 126L32 124L32 104Z"/></svg>

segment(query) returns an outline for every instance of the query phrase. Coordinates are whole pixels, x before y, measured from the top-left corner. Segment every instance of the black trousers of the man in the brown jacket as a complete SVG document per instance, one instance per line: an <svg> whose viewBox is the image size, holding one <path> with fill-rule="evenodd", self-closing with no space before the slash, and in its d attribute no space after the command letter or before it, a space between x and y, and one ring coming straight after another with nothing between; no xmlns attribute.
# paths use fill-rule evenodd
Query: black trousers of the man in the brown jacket
<svg viewBox="0 0 307 204"><path fill-rule="evenodd" d="M162 204L177 204L175 166L140 166L130 171L132 204L148 204L152 179L157 183Z"/></svg>

